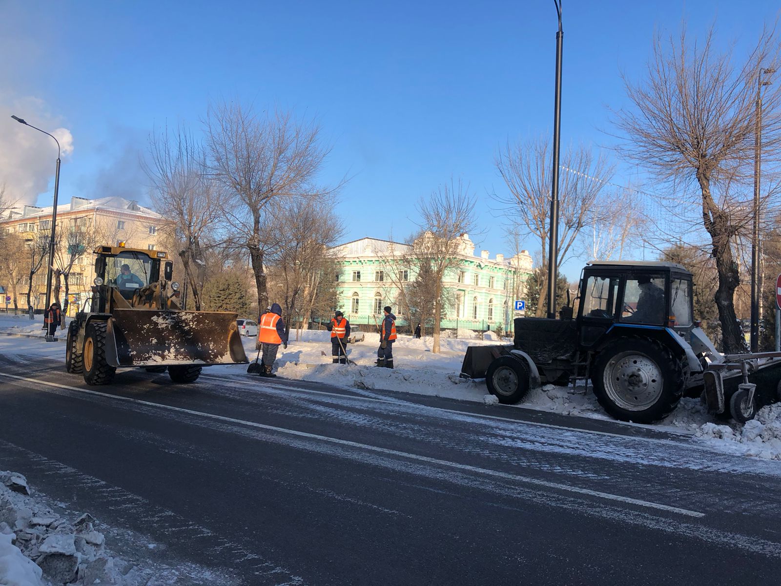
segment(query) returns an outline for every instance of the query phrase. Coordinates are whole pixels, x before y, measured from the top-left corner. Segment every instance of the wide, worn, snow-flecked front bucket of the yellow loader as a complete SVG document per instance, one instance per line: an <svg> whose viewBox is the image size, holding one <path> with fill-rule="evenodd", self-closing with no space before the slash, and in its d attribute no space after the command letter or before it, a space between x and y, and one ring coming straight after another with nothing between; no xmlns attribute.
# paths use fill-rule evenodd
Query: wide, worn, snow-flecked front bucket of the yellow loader
<svg viewBox="0 0 781 586"><path fill-rule="evenodd" d="M247 363L236 317L217 311L115 309L109 336L116 344L116 366ZM106 356L109 362L112 358Z"/></svg>

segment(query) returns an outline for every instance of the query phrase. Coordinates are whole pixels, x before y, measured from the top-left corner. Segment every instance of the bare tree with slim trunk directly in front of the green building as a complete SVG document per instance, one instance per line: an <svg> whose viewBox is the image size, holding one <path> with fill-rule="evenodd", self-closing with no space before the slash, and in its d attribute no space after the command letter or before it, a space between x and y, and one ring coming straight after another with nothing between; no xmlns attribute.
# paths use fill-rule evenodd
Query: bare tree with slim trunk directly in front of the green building
<svg viewBox="0 0 781 586"><path fill-rule="evenodd" d="M421 216L421 234L412 242L412 255L428 263L436 278L433 310L433 344L431 352L440 352L442 321L442 287L448 273L461 266L464 234L473 232L476 197L468 193L469 185L452 179L428 198L421 198L417 209Z"/></svg>

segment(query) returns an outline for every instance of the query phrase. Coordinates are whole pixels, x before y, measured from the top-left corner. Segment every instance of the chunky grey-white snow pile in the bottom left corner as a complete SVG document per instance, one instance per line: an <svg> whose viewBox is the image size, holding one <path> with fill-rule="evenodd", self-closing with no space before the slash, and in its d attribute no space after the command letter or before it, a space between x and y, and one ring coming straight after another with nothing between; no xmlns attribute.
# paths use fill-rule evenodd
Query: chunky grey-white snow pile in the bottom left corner
<svg viewBox="0 0 781 586"><path fill-rule="evenodd" d="M148 583L148 571L109 556L89 513L70 523L29 495L25 477L0 472L0 585Z"/></svg>

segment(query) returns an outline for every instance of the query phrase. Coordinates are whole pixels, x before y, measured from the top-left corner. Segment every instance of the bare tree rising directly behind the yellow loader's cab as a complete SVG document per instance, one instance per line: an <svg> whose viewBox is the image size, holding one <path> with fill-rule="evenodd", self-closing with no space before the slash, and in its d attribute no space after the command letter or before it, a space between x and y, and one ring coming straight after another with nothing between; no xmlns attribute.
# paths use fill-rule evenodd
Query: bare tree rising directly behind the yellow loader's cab
<svg viewBox="0 0 781 586"><path fill-rule="evenodd" d="M224 188L206 163L205 150L191 132L166 127L148 138L150 163L144 170L152 180L155 209L167 220L167 234L179 248L184 275L195 310L201 310L200 288L205 282L205 248L215 236L219 220L230 213Z"/></svg>

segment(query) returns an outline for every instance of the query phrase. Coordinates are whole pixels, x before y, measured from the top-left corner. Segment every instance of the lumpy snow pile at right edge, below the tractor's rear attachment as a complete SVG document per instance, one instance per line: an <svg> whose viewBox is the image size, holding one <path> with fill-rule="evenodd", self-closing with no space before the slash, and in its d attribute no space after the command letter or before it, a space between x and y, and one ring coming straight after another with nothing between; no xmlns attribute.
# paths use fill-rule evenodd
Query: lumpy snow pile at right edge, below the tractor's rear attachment
<svg viewBox="0 0 781 586"><path fill-rule="evenodd" d="M697 437L734 454L781 460L781 403L762 407L742 426L704 423Z"/></svg>

